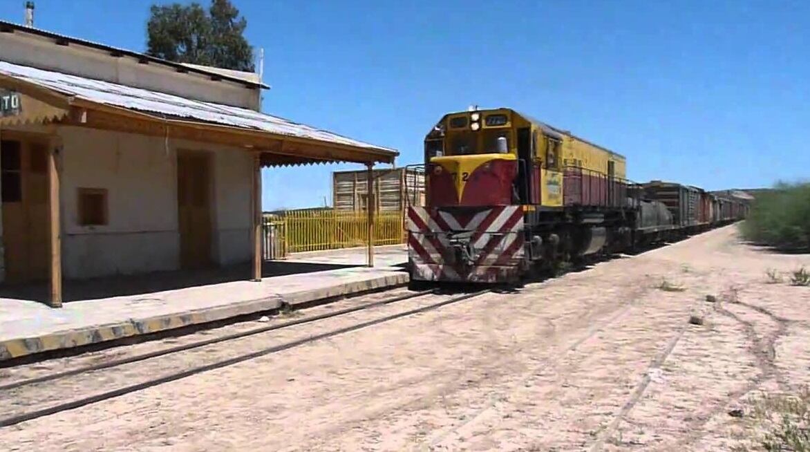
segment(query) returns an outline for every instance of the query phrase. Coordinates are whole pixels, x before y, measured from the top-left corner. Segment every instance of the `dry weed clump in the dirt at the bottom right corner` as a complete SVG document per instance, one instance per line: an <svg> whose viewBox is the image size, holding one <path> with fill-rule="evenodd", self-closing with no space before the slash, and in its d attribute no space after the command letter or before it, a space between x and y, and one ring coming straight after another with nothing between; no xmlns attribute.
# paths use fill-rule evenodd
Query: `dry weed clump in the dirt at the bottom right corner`
<svg viewBox="0 0 810 452"><path fill-rule="evenodd" d="M810 390L807 387L796 395L765 394L752 403L752 417L761 432L751 438L759 446L753 450L810 452ZM750 449L737 447L735 450Z"/></svg>

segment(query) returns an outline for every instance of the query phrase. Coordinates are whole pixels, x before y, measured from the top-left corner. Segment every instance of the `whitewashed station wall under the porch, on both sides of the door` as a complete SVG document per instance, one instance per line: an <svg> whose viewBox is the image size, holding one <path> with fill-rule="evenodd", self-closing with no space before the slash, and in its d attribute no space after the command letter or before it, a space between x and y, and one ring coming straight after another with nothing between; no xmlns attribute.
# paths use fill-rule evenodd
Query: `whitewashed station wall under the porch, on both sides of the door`
<svg viewBox="0 0 810 452"><path fill-rule="evenodd" d="M25 130L38 131L31 126ZM180 267L177 149L211 152L214 261L220 265L249 262L253 171L249 152L181 140L169 140L167 145L160 138L80 127L60 127L58 134L62 137L62 272L66 278ZM80 187L108 190L109 224L79 226Z"/></svg>

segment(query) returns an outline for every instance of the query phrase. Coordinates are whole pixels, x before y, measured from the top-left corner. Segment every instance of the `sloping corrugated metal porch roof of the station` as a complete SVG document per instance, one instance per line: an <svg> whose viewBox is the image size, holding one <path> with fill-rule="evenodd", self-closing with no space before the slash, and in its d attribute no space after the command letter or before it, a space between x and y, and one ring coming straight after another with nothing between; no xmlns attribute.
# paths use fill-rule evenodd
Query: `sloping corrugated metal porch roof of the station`
<svg viewBox="0 0 810 452"><path fill-rule="evenodd" d="M327 130L320 130L250 109L186 99L185 97L163 92L127 87L117 83L87 79L29 66L19 66L9 62L0 62L0 74L35 83L41 87L98 104L113 105L172 118L185 118L242 129L262 130L271 134L313 139L326 143L364 147L375 151L391 152L396 155L396 152L388 147L364 143Z"/></svg>

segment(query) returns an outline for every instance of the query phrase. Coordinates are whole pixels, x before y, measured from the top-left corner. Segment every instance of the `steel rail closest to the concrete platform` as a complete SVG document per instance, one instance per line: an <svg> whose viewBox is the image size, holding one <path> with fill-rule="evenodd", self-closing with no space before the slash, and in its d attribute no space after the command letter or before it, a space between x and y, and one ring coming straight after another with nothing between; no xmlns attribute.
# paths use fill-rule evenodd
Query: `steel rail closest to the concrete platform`
<svg viewBox="0 0 810 452"><path fill-rule="evenodd" d="M330 313L322 313L322 314L318 314L318 315L311 316L311 317L300 318L300 319L297 319L297 320L292 320L290 322L277 323L275 325L268 325L268 326L260 326L258 328L254 328L252 330L241 331L239 333L232 333L230 335L224 335L224 336L211 338L211 339L204 339L204 340L200 340L200 341L193 342L193 343L186 343L186 344L178 345L178 346L175 346L175 347L164 348L162 350L156 350L155 352L148 352L148 353L143 353L141 355L129 356L129 357L122 358L122 359L119 359L119 360L111 360L111 361L107 361L107 362L104 362L104 363L99 363L99 364L96 364L96 365L87 365L87 366L84 366L84 367L79 367L79 368L76 368L76 369L70 369L70 370L66 370L66 371L58 372L58 373L49 373L47 375L42 375L40 377L27 378L25 380L20 380L18 382L11 382L11 383L6 383L5 385L0 385L0 391L12 390L12 389L16 389L16 388L19 388L19 387L22 387L22 386L30 386L30 385L33 385L33 384L36 384L36 383L50 382L50 381L53 381L53 380L57 380L59 378L72 377L74 375L79 375L79 374L88 373L88 372L94 372L96 370L109 369L111 367L117 367L119 365L127 365L127 364L131 364L131 363L135 363L135 362L143 361L143 360L149 360L151 358L156 358L158 356L169 355L169 354L172 354L172 353L185 352L186 350L191 350L193 348L205 347L205 346L211 345L213 343L220 343L220 342L225 342L225 341L229 341L229 340L233 340L233 339L241 339L241 338L245 338L245 337L252 336L252 335L258 335L260 333L265 333L266 331L280 330L282 328L287 328L289 326L296 326L296 325L301 325L301 324L304 324L304 323L316 322L318 320L323 320L325 318L337 317L339 315L343 315L343 314L346 314L346 313L353 313L353 312L360 311L360 310L363 310L363 309L374 308L374 307L377 307L377 306L382 306L382 305L388 305L390 303L395 303L397 301L403 301L403 300L407 300L407 299L410 299L410 298L416 298L417 296L429 295L430 293L433 293L433 291L428 290L428 291L422 291L422 292L407 293L407 294L401 295L401 296L394 296L394 297L392 297L390 299L387 299L387 300L373 301L372 303L366 303L364 305L352 306L351 308L339 309L337 311L333 311L333 312L330 312Z"/></svg>

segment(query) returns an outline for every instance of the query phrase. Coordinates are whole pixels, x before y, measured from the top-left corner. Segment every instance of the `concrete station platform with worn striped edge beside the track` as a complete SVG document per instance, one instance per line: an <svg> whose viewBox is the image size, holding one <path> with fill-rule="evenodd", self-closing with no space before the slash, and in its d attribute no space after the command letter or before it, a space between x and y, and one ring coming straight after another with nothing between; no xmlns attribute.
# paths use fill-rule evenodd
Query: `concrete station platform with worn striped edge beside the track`
<svg viewBox="0 0 810 452"><path fill-rule="evenodd" d="M376 250L374 268L364 249L265 262L259 283L244 280L249 267L66 281L61 309L37 301L44 286L2 287L0 361L407 284L406 261L396 245Z"/></svg>

